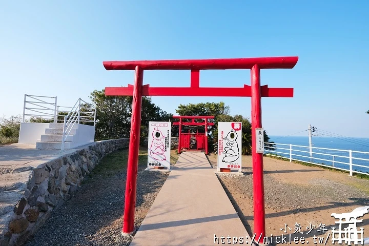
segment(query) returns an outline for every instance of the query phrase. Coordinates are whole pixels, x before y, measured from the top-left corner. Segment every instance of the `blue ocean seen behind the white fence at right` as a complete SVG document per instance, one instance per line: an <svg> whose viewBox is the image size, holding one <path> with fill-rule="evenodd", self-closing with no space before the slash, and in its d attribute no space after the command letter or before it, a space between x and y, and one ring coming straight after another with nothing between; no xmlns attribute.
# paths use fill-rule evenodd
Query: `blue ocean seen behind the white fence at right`
<svg viewBox="0 0 369 246"><path fill-rule="evenodd" d="M307 134L306 134L307 135ZM326 148L326 149L335 149L335 150L325 150L325 149L315 149L313 148L313 158L311 159L309 153L309 137L308 136L269 136L270 141L274 141L277 145L277 149L274 152L278 155L283 155L285 157L290 158L290 146L292 146L292 158L302 161L310 161L322 164L326 166L334 166L336 168L341 168L345 170L349 170L349 152L348 150L352 150L352 170L369 173L369 138L345 138L345 137L317 137L312 136L313 147L316 148ZM279 144L279 145L278 145ZM285 146L288 145L288 146ZM295 147L295 146L304 146L304 147ZM301 152L306 151L306 152ZM359 152L367 152L365 153L357 153ZM267 151L265 151L267 153ZM272 152L273 153L273 152ZM330 156L330 155L334 155ZM355 159L361 158L361 159ZM367 160L362 160L367 159ZM340 163L342 162L342 163ZM347 164L344 164L347 163ZM355 165L360 165L355 166Z"/></svg>

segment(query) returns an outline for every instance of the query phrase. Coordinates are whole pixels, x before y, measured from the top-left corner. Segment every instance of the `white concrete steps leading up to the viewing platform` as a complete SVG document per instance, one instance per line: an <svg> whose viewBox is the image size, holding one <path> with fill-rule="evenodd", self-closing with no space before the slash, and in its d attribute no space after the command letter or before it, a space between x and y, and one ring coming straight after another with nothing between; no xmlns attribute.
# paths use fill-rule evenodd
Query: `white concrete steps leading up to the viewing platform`
<svg viewBox="0 0 369 246"><path fill-rule="evenodd" d="M36 141L36 149L60 150L63 138L63 125L63 123L49 123L49 128L45 129L45 134L41 135L41 138ZM75 137L77 131L78 124L75 124L64 142L64 149L74 148L73 137Z"/></svg>

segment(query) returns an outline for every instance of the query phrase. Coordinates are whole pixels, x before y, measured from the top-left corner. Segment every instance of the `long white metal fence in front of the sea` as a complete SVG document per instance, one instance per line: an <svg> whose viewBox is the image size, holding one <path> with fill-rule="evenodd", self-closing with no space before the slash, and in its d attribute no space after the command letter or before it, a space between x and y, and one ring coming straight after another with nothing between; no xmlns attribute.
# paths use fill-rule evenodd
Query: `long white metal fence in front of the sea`
<svg viewBox="0 0 369 246"><path fill-rule="evenodd" d="M275 145L276 147L273 147L273 145ZM274 149L273 151L265 151L264 153L265 155L289 159L290 162L292 162L292 160L298 160L298 161L302 161L306 163L311 163L317 166L330 167L330 168L334 168L338 170L349 171L350 176L352 176L353 173L369 175L369 152L328 149L328 148L318 148L318 147L312 147L313 150L310 151L311 147L309 146L275 144L275 143L270 143L270 142L265 142L264 147ZM308 151L305 151L304 150L305 148L308 149ZM314 152L314 150L319 151L319 152ZM281 151L285 151L285 152L281 152ZM326 152L326 151L334 151L334 152ZM282 156L275 155L273 153L282 154ZM304 153L308 153L308 155L303 155ZM327 153L334 153L334 154L327 154ZM342 153L346 155L340 155ZM353 155L356 155L357 157L354 157ZM330 159L325 159L325 158L328 158L327 156L330 156ZM366 158L363 158L363 157L366 157ZM324 162L317 163L317 162L314 162L314 160L320 160ZM332 163L332 166L329 165L330 163ZM364 171L357 171L355 168L361 168L361 169L364 169Z"/></svg>

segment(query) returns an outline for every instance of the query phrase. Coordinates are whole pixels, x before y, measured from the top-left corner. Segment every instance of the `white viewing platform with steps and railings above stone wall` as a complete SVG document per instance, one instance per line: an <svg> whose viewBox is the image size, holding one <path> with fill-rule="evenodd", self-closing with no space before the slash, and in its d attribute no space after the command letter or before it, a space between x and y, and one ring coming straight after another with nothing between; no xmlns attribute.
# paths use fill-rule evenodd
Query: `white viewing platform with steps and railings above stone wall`
<svg viewBox="0 0 369 246"><path fill-rule="evenodd" d="M50 98L52 102L47 101ZM56 97L25 94L18 144L35 145L36 149L65 150L94 142L96 108L80 98L73 107L56 104ZM60 111L60 108L70 110ZM33 118L26 120L27 116Z"/></svg>

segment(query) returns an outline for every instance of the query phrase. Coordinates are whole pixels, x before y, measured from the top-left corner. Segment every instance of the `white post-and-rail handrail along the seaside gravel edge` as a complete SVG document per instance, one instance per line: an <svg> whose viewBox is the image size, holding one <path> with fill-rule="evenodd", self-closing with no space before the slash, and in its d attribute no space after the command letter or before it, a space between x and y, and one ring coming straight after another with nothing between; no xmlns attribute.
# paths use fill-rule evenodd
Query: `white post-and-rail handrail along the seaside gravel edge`
<svg viewBox="0 0 369 246"><path fill-rule="evenodd" d="M272 145L275 145L277 147L273 147ZM290 148L279 148L278 146L289 146ZM301 161L301 162L305 162L305 163L310 163L313 165L317 165L317 166L324 166L327 167L327 164L320 164L320 163L316 163L313 160L322 160L325 161L327 163L332 163L332 166L329 166L330 168L334 168L334 169L338 169L338 170L344 170L344 171L349 171L350 172L350 176L353 176L353 173L360 173L360 174L365 174L365 175L369 175L369 173L365 173L365 172L360 172L360 171L355 171L353 170L353 167L361 167L361 168L366 168L369 170L369 159L367 158L359 158L359 157L353 157L353 153L360 153L360 154L367 154L369 155L369 152L364 152L364 151L353 151L353 150L339 150L339 149L329 149L329 148L320 148L320 147L309 147L309 146L300 146L300 145L288 145L288 144L278 144L278 143L273 143L273 142L265 142L264 143L264 147L270 148L270 149L274 149L273 151L265 151L264 155L269 155L269 156L276 156L276 157L281 157L281 158L285 158L285 159L290 159L290 162L292 162L292 160L297 160L297 161ZM317 150L331 150L331 151L339 151L342 153L348 153L348 156L343 156L343 155L338 155L337 154L327 154L327 152L325 153L318 153L318 152L313 152L313 151L303 151L303 150L298 150L298 149L293 149L293 147L297 147L297 148L312 148L312 149L317 149ZM278 150L278 151L276 151ZM287 152L281 152L279 150L287 150L289 151ZM298 153L296 153L298 152ZM309 155L302 155L300 153L310 153ZM273 153L278 153L278 154L282 154L284 156L280 156L280 155L275 155ZM316 157L316 155L320 155L320 156L332 156L332 159L324 159L323 157L318 158ZM319 157L320 157L319 156ZM298 157L303 157L306 159L310 159L310 161L307 160L303 160L301 158ZM335 158L344 158L344 159L348 159L348 162L343 162L343 161L338 161L337 159L335 160ZM368 157L369 158L369 157ZM365 161L366 166L364 165L359 165L358 163L353 163L353 161L355 160L361 160L361 161ZM348 166L348 168L343 168L342 165L341 167L335 167L335 163L339 163L342 165L346 165L346 167Z"/></svg>

